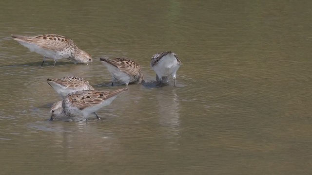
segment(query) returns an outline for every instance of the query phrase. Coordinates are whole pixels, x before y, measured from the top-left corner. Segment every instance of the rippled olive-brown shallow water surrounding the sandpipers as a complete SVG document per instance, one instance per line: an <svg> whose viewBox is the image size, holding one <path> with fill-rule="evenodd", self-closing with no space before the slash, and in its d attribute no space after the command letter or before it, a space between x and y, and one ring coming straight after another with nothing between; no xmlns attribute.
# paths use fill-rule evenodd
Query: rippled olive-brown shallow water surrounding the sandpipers
<svg viewBox="0 0 312 175"><path fill-rule="evenodd" d="M1 0L1 175L311 175L312 1ZM10 38L59 34L94 62L56 67ZM150 58L181 59L177 87ZM106 120L49 122L48 77L110 87L98 58L128 57L131 85Z"/></svg>

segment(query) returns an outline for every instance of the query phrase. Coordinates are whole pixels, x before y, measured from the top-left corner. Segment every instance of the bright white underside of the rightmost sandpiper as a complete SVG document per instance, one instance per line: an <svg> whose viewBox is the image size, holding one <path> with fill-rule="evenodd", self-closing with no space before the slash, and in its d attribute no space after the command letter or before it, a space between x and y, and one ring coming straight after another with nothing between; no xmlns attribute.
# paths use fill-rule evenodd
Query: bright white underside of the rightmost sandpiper
<svg viewBox="0 0 312 175"><path fill-rule="evenodd" d="M176 71L179 69L180 65L177 64L176 57L173 53L169 53L163 56L158 64L154 65L152 69L158 75L160 81L162 77L168 77L172 75L176 78Z"/></svg>

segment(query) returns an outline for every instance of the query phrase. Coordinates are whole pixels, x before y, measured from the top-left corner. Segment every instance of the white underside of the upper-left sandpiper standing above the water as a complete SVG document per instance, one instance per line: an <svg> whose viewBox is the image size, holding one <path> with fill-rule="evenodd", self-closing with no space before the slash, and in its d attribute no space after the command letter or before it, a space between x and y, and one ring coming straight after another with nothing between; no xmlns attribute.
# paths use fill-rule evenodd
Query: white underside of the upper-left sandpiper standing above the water
<svg viewBox="0 0 312 175"><path fill-rule="evenodd" d="M26 48L28 48L30 52L38 53L38 54L43 55L43 56L45 56L47 58L52 58L54 60L58 60L58 59L61 59L61 58L65 57L65 55L61 55L62 53L60 53L60 52L43 49L43 48L41 48L38 45L33 44L33 43L28 43L28 42L24 42L24 41L20 41L20 40L17 40L17 41L21 45L23 45Z"/></svg>

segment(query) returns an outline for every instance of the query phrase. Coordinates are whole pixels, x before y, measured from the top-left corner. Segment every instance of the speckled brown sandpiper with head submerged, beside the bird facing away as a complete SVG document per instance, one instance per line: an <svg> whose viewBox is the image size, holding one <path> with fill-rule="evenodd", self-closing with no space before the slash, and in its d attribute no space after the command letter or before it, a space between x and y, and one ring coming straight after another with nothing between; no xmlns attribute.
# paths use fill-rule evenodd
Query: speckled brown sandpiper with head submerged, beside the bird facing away
<svg viewBox="0 0 312 175"><path fill-rule="evenodd" d="M112 74L112 86L114 85L114 81L120 81L125 85L144 81L141 66L132 60L126 58L115 58L113 60L108 58L99 59Z"/></svg>

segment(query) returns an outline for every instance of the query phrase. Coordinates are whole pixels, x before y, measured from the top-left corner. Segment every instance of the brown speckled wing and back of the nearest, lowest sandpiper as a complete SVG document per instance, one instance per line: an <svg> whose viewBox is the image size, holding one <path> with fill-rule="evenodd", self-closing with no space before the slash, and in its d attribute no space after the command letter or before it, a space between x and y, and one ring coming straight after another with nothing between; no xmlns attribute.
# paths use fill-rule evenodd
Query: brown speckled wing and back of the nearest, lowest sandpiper
<svg viewBox="0 0 312 175"><path fill-rule="evenodd" d="M98 105L103 101L116 96L128 88L121 88L117 90L106 90L106 91L78 91L70 93L66 98L72 103L72 105L78 107L79 109L84 109L92 105Z"/></svg>

